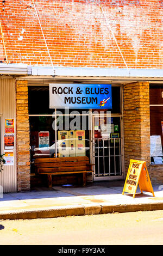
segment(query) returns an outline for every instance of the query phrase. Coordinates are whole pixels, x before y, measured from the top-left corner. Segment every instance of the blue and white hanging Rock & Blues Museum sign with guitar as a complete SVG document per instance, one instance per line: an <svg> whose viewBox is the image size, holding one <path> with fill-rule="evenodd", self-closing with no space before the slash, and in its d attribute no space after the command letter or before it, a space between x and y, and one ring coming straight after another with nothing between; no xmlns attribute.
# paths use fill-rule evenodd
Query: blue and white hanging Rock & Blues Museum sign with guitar
<svg viewBox="0 0 163 256"><path fill-rule="evenodd" d="M112 108L111 84L49 84L49 108Z"/></svg>

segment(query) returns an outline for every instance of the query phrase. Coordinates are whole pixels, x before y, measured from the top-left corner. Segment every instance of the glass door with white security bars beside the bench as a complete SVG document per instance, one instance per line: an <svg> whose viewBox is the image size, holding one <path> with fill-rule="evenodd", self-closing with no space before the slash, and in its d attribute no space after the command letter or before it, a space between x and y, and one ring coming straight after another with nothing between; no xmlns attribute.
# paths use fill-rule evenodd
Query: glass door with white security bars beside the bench
<svg viewBox="0 0 163 256"><path fill-rule="evenodd" d="M122 179L121 118L104 115L100 129L96 119L96 115L93 116L94 180Z"/></svg>

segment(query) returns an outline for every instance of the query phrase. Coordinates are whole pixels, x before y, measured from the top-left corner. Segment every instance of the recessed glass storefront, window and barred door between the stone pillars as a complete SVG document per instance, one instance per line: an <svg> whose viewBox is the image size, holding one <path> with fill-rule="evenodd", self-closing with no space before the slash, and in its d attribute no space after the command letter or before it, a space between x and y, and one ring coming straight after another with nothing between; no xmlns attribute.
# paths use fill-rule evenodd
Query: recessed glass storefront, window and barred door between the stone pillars
<svg viewBox="0 0 163 256"><path fill-rule="evenodd" d="M121 87L112 87L112 109L49 109L48 90L29 87L31 173L36 158L88 156L92 180L123 179Z"/></svg>

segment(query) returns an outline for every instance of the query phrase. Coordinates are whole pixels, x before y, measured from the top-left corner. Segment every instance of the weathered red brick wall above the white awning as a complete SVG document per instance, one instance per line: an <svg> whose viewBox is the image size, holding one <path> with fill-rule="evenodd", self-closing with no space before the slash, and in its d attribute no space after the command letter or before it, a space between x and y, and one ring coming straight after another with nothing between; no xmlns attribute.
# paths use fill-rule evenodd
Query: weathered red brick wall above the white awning
<svg viewBox="0 0 163 256"><path fill-rule="evenodd" d="M126 68L101 5L128 67L163 67L161 0L35 0L35 5L54 65ZM0 11L9 62L51 65L32 1L1 1Z"/></svg>

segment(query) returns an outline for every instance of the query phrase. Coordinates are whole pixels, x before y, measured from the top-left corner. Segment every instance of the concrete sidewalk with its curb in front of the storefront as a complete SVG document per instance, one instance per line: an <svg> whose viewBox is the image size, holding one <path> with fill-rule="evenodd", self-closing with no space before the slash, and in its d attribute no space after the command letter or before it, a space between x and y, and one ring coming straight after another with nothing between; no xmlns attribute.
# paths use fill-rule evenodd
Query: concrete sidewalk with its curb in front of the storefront
<svg viewBox="0 0 163 256"><path fill-rule="evenodd" d="M124 180L36 188L29 192L7 193L0 199L0 219L32 219L68 215L163 210L163 190L153 185L152 193L122 195Z"/></svg>

